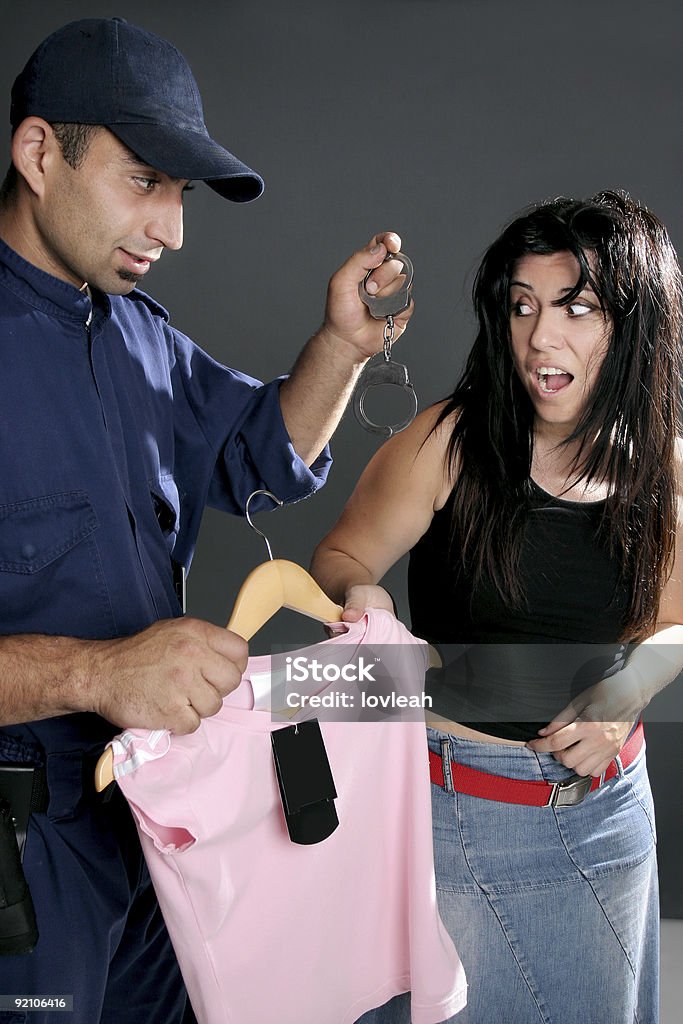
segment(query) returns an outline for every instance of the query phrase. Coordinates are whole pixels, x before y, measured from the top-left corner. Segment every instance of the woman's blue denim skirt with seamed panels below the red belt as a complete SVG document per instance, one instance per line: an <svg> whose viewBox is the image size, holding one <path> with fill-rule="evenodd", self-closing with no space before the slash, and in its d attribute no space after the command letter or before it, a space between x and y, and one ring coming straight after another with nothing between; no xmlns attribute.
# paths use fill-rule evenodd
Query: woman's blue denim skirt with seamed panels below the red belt
<svg viewBox="0 0 683 1024"><path fill-rule="evenodd" d="M447 740L454 761L557 782L552 755ZM659 912L645 750L582 804L526 807L432 784L439 910L465 967L457 1024L657 1024ZM364 1024L407 1024L407 996Z"/></svg>

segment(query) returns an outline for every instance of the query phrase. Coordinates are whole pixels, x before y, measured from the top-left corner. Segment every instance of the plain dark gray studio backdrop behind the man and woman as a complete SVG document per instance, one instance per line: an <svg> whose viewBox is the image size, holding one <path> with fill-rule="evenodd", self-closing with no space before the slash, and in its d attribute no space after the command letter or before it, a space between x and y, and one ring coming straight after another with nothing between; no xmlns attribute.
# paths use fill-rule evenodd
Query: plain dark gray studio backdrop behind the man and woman
<svg viewBox="0 0 683 1024"><path fill-rule="evenodd" d="M469 289L482 250L526 204L624 187L683 246L677 0L0 0L0 13L6 97L37 42L73 18L121 15L184 52L210 131L262 173L266 191L240 207L199 186L183 251L166 254L146 288L179 329L254 376L291 367L322 321L331 272L378 230L398 230L415 263L417 310L395 357L421 408L447 392L471 343ZM258 517L275 556L307 565L377 446L345 418L326 488ZM227 622L264 557L244 520L207 512L190 612ZM388 586L407 617L404 565ZM319 636L282 612L254 647ZM680 722L674 703L653 713L648 742L664 912L683 916L671 784L682 729L668 716Z"/></svg>

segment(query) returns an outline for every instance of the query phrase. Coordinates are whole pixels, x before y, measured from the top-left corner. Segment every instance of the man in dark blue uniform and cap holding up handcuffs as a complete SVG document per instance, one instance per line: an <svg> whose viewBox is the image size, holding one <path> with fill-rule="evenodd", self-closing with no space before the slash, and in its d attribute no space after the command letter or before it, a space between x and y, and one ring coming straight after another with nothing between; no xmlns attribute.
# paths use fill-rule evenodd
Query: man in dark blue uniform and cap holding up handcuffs
<svg viewBox="0 0 683 1024"><path fill-rule="evenodd" d="M246 643L182 617L173 563L189 563L207 504L241 513L258 487L293 501L324 482L327 441L382 345L357 285L373 269L369 291L389 284L400 240L378 236L337 271L323 328L263 385L136 288L180 248L190 179L234 202L263 187L209 136L181 55L117 18L66 26L14 83L11 122L0 775L10 790L17 766L33 778L24 869L40 937L0 956L0 995L46 1007L25 999L0 1021L61 1020L49 996L68 994L76 1024L174 1024L184 992L137 838L118 793L96 797L93 766L120 728L189 732L238 684Z"/></svg>

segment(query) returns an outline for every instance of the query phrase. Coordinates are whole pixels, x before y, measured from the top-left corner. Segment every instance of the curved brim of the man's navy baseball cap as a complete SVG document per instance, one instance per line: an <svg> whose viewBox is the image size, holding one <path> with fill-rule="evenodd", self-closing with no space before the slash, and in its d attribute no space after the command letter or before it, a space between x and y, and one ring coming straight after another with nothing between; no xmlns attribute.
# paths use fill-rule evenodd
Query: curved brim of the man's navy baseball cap
<svg viewBox="0 0 683 1024"><path fill-rule="evenodd" d="M145 164L172 178L206 181L233 203L251 203L263 191L263 178L203 132L174 125L106 125Z"/></svg>

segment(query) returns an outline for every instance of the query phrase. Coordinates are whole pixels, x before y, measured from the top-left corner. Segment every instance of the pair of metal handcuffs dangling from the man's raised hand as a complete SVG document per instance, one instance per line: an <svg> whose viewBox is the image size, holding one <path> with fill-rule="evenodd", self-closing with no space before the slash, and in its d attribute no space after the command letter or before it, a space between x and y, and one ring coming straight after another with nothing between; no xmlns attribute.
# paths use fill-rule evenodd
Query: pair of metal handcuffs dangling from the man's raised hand
<svg viewBox="0 0 683 1024"><path fill-rule="evenodd" d="M374 316L375 319L386 319L386 324L384 326L384 351L380 356L368 364L353 393L353 415L360 426L371 433L384 434L385 437L391 437L392 434L397 434L400 430L404 430L413 422L418 411L418 397L408 376L408 367L404 367L401 362L394 362L391 358L394 330L393 318L398 313L402 313L404 309L408 309L411 304L413 263L405 253L389 253L385 262L388 260L400 260L403 264L405 281L397 292L394 292L393 295L382 297L370 295L366 290L366 284L373 272L372 270L368 271L358 285L358 295L368 306L370 315ZM400 387L411 399L411 411L398 423L374 423L366 412L366 397L368 392L371 388L378 387L380 384L390 384Z"/></svg>

